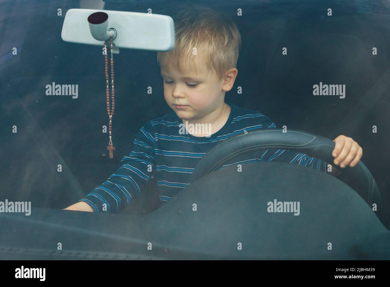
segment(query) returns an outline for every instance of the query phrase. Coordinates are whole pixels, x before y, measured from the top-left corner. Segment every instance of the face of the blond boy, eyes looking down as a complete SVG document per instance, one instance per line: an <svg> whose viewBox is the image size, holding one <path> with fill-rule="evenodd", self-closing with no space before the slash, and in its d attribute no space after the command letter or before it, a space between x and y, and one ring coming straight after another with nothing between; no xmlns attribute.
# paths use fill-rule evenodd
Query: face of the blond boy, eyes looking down
<svg viewBox="0 0 390 287"><path fill-rule="evenodd" d="M224 105L225 81L205 66L198 65L197 74L190 75L181 75L173 66L161 66L161 76L165 101L181 119L202 120Z"/></svg>

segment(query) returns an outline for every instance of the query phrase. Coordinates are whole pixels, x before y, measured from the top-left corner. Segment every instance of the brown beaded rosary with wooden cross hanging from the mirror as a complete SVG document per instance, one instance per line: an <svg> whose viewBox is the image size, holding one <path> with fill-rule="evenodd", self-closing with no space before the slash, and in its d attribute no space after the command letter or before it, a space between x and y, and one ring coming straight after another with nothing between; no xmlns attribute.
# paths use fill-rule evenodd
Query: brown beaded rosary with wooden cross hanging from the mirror
<svg viewBox="0 0 390 287"><path fill-rule="evenodd" d="M110 135L110 141L108 142L107 150L110 151L110 159L113 158L113 151L115 148L112 146L112 115L114 114L115 109L115 89L114 89L114 59L112 58L112 35L110 37L110 50L111 50L111 109L110 109L110 90L108 89L109 83L108 83L108 57L107 57L107 43L104 41L104 47L105 47L105 55L104 55L104 61L105 61L105 72L106 72L106 98L107 98L107 114L108 119L110 120L110 123L108 125L109 135Z"/></svg>

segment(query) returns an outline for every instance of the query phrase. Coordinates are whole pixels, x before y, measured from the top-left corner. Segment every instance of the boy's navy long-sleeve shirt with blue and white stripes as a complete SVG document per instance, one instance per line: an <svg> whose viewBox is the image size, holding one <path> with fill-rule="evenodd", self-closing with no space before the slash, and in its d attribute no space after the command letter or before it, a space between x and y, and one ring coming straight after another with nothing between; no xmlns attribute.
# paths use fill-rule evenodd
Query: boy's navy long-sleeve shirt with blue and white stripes
<svg viewBox="0 0 390 287"><path fill-rule="evenodd" d="M225 125L209 137L183 134L183 125L175 112L147 122L138 131L133 151L121 160L121 167L103 184L79 201L89 203L95 212L118 212L138 196L151 176L155 176L160 200L169 201L189 184L190 176L202 157L216 144L229 137L258 128L275 128L264 114L241 109L233 103ZM282 161L326 172L326 162L289 150L261 150L234 158L232 164ZM103 206L106 208L103 209Z"/></svg>

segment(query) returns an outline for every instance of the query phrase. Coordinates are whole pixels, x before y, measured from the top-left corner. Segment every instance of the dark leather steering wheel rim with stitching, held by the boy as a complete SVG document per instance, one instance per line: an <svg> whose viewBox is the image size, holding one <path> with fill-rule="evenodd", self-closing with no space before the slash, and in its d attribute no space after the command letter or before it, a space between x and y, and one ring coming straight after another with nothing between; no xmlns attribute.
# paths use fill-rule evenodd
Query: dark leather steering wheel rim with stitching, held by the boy
<svg viewBox="0 0 390 287"><path fill-rule="evenodd" d="M257 150L269 148L294 150L305 153L317 159L326 162L333 162L332 151L335 143L320 135L289 130L287 133L282 129L255 130L245 134L235 135L222 143L216 144L199 161L190 178L190 184L220 167L228 160ZM375 212L379 219L382 217L381 194L378 185L370 171L362 161L351 168L347 166L337 176L342 182L349 185L369 204L375 203L377 211Z"/></svg>

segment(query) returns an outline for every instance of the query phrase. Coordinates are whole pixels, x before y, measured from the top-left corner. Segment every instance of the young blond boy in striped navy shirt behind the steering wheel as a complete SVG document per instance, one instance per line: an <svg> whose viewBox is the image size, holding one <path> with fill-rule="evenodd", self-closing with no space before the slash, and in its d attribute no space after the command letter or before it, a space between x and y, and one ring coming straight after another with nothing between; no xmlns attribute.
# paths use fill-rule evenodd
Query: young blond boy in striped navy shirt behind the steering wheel
<svg viewBox="0 0 390 287"><path fill-rule="evenodd" d="M236 25L205 7L181 11L177 20L174 50L157 55L165 101L174 112L141 127L133 151L121 160L121 168L66 210L118 212L140 194L152 174L157 179L160 200L169 201L188 186L198 162L215 144L244 130L276 127L260 112L224 102L238 73L234 67L241 36ZM204 128L188 128L191 124L204 124ZM340 168L355 166L362 157L362 148L344 135L334 141L334 164ZM225 166L275 160L324 172L327 169L322 160L288 150L242 155Z"/></svg>

